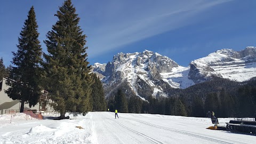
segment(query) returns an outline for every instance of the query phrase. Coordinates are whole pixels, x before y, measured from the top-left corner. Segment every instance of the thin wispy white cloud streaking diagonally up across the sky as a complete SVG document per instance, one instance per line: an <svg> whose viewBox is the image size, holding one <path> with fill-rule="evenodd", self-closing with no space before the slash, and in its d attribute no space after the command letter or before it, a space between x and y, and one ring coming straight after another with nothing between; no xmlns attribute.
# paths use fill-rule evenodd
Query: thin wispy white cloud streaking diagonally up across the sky
<svg viewBox="0 0 256 144"><path fill-rule="evenodd" d="M97 27L82 26L89 36L87 45L90 49L87 52L91 58L122 45L190 25L199 19L197 14L229 1L143 2L115 1L104 7L96 7L100 9L93 13Z"/></svg>

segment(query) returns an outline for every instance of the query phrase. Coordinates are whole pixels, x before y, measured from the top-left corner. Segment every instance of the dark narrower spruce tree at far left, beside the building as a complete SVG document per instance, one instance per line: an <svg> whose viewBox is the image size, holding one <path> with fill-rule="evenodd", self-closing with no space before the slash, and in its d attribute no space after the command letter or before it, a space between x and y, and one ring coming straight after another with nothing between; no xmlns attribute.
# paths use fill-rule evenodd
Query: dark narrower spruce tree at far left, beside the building
<svg viewBox="0 0 256 144"><path fill-rule="evenodd" d="M11 87L5 91L13 100L21 100L20 112L23 112L26 101L30 107L35 106L41 94L39 63L42 61L42 48L38 41L37 28L36 14L32 6L18 38L18 51L12 52L14 66L11 68L10 78L13 81L7 81Z"/></svg>

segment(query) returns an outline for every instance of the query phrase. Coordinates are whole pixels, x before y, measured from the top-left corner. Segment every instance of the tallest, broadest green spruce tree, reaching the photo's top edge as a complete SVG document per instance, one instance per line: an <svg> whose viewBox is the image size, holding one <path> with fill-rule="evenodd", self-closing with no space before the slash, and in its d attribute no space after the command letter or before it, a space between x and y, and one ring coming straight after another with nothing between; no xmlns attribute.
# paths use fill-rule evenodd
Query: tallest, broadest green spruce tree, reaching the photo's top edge
<svg viewBox="0 0 256 144"><path fill-rule="evenodd" d="M91 110L93 81L84 47L86 35L78 26L80 18L75 12L71 1L65 1L55 14L59 20L44 41L49 53L44 54L45 84L60 118L65 117L66 111L86 114Z"/></svg>

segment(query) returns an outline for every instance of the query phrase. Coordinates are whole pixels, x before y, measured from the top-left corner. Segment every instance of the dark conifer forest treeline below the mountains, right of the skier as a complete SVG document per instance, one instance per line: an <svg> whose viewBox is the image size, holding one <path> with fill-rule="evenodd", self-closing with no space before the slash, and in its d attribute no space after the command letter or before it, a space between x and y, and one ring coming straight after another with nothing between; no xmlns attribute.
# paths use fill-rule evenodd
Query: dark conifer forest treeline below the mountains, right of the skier
<svg viewBox="0 0 256 144"><path fill-rule="evenodd" d="M125 94L121 87L117 94L108 99L108 106L110 111L117 108L121 113L194 117L206 117L207 111L214 111L217 117L252 117L256 113L255 79L238 83L217 78L173 93L175 96L169 98L149 96L147 100L142 100L139 97L126 95L124 99ZM128 107L128 110L121 108L122 105Z"/></svg>

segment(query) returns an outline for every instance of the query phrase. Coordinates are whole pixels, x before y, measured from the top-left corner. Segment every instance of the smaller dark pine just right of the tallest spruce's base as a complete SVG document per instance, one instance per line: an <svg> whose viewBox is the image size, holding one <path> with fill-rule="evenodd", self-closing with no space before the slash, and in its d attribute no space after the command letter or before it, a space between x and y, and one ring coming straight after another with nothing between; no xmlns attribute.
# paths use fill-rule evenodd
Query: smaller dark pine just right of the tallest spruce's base
<svg viewBox="0 0 256 144"><path fill-rule="evenodd" d="M93 111L105 111L106 101L102 83L96 74L92 74L94 83L92 84Z"/></svg>

